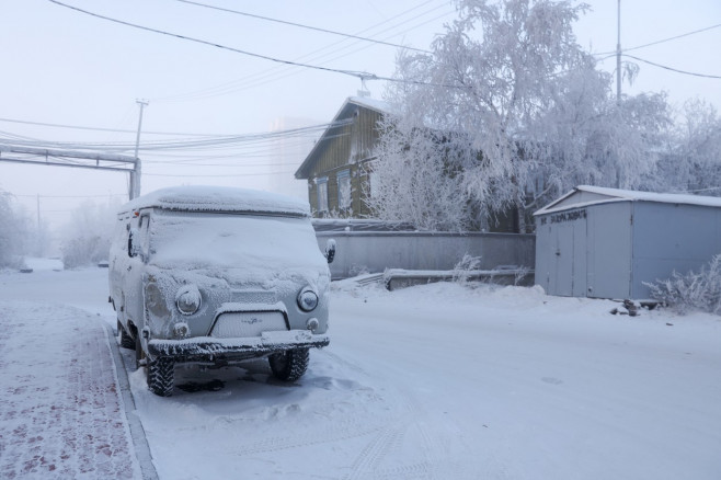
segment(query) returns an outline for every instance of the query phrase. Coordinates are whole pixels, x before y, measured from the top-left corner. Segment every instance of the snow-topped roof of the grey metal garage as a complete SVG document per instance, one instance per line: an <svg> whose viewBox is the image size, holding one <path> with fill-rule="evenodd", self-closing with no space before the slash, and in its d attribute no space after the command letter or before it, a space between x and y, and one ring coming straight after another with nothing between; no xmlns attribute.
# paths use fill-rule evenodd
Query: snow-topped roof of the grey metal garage
<svg viewBox="0 0 721 480"><path fill-rule="evenodd" d="M575 198L574 198L575 197ZM546 215L553 212L581 208L590 205L599 205L611 202L655 202L663 204L699 205L707 207L721 207L721 198L713 196L638 192L633 190L608 188L603 186L579 185L560 198L534 213Z"/></svg>

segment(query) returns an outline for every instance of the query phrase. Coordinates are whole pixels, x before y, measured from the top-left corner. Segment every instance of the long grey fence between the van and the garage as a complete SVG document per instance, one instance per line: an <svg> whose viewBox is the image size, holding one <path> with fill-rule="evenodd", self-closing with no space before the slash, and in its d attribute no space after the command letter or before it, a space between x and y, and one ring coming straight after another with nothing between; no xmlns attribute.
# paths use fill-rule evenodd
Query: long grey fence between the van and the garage
<svg viewBox="0 0 721 480"><path fill-rule="evenodd" d="M445 233L419 231L317 231L325 251L329 239L336 243L330 265L333 279L386 268L453 270L465 254L480 256L479 270L526 267L536 261L534 235Z"/></svg>

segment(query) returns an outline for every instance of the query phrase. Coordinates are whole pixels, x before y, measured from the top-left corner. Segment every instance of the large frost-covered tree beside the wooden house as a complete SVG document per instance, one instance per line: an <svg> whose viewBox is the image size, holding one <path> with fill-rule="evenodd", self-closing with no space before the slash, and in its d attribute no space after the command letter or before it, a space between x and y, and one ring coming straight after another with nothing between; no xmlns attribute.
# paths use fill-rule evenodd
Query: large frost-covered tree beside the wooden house
<svg viewBox="0 0 721 480"><path fill-rule="evenodd" d="M569 1L460 0L432 54L402 53L368 201L381 218L462 230L579 183L641 187L663 95L618 104L576 43ZM426 201L425 203L423 203Z"/></svg>

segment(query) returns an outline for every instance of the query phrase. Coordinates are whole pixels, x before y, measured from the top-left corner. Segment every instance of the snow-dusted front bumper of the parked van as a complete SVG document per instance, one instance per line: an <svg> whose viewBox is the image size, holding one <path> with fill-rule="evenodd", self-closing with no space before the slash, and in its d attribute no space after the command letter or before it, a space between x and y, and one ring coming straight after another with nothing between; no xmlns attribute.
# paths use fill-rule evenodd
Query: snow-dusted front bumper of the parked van
<svg viewBox="0 0 721 480"><path fill-rule="evenodd" d="M329 343L328 335L316 335L308 330L289 330L264 332L261 336L247 339L151 339L148 341L148 354L151 358L170 357L175 362L232 362L291 348L320 348Z"/></svg>

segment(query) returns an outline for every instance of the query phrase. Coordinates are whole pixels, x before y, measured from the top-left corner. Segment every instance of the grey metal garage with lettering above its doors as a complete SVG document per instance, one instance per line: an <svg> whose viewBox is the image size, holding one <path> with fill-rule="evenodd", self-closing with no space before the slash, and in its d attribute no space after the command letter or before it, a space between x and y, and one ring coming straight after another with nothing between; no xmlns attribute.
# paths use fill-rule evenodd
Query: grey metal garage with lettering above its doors
<svg viewBox="0 0 721 480"><path fill-rule="evenodd" d="M650 298L644 283L721 253L721 198L581 185L534 214L536 284L564 297Z"/></svg>

